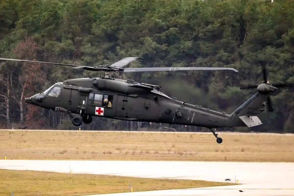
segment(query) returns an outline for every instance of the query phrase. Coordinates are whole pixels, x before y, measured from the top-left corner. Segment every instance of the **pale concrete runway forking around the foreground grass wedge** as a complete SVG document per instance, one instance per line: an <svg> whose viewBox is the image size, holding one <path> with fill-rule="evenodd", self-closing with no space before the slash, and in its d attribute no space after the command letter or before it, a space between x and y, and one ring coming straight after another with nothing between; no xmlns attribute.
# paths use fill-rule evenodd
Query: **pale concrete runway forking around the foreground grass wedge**
<svg viewBox="0 0 294 196"><path fill-rule="evenodd" d="M0 169L192 179L240 185L107 196L294 196L294 163L0 160ZM136 188L134 187L134 190ZM239 192L239 190L244 192Z"/></svg>

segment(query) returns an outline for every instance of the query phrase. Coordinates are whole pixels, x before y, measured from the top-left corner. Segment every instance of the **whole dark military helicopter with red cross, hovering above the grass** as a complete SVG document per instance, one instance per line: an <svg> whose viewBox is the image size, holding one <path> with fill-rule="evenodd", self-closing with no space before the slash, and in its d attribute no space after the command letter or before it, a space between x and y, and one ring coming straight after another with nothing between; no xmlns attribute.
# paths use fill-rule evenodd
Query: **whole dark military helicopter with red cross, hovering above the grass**
<svg viewBox="0 0 294 196"><path fill-rule="evenodd" d="M257 93L253 97L249 98L232 114L225 114L224 112L203 108L201 105L192 105L170 98L160 91L160 86L138 83L132 79L113 78L110 73L183 70L230 70L238 72L237 70L203 67L124 68L125 65L136 59L137 57L127 57L112 65L88 67L0 58L0 60L64 65L75 69L104 71L104 77L94 78L90 76L89 78L68 79L52 85L42 93L25 98L26 103L68 113L75 126L81 125L82 122L91 123L92 116L127 121L203 126L211 130L219 144L221 144L222 139L215 133L219 127L251 127L262 124L257 116L265 110L266 100L277 90L269 82L262 83L257 86ZM73 116L73 113L78 115Z"/></svg>

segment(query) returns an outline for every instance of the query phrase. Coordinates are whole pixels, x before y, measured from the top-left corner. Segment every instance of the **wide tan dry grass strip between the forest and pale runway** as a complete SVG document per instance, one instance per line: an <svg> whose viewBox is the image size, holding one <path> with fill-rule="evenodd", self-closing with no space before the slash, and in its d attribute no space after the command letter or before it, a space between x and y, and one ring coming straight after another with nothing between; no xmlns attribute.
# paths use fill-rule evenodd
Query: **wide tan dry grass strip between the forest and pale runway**
<svg viewBox="0 0 294 196"><path fill-rule="evenodd" d="M0 158L294 162L294 135L0 131Z"/></svg>

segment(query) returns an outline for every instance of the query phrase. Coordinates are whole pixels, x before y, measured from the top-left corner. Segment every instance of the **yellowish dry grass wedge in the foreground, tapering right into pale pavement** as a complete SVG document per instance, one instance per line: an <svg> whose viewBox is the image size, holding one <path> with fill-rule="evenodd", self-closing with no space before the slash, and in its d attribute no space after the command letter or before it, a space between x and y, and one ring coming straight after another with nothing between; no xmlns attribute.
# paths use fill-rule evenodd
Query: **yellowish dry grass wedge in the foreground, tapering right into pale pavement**
<svg viewBox="0 0 294 196"><path fill-rule="evenodd" d="M200 180L170 180L92 174L0 170L0 196L78 196L231 185Z"/></svg>

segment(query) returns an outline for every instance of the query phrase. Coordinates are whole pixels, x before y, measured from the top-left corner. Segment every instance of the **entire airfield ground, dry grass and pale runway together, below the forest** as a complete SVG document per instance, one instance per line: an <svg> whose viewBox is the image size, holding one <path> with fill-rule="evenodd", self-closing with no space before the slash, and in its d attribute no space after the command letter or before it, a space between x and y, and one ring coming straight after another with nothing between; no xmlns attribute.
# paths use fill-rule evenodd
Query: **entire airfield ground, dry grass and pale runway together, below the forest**
<svg viewBox="0 0 294 196"><path fill-rule="evenodd" d="M213 190L215 188L218 189L216 190L218 193L223 192L224 195L227 195L228 192L232 192L231 195L236 195L239 189L245 189L249 195L263 194L262 196L268 196L273 191L278 191L278 193L273 193L273 195L279 194L281 196L288 196L293 193L292 181L287 178L287 175L292 176L291 172L293 172L291 165L289 166L287 164L292 163L240 163L294 162L293 134L220 133L219 136L223 139L222 144L217 144L211 133L0 130L0 159L4 159L5 156L7 158L7 160L0 160L0 168L10 169L0 170L0 196L10 195L12 190L14 190L15 194L24 196L74 196L122 193L129 192L129 182L132 182L132 186L136 187L136 192L208 186L222 187L224 185L222 183L193 181L192 179L224 182L225 178L234 178L234 175L237 175L240 181L245 184L227 186L227 188L225 186L224 188L212 187L199 190L182 189L177 191L186 191L189 193L179 193L178 195L201 195L203 194L202 192L209 192L210 195L216 195ZM92 162L88 163L89 161L80 161L81 163L75 163L76 161L70 161L71 163L68 163L66 161L66 167L61 166L59 169L52 169L49 165L54 168L58 164L51 163L51 161L49 161L50 163L45 163L46 161L34 163L35 161L32 161L32 163L25 165L25 162L28 161L11 159L68 161L147 160L147 162L142 162L145 170L140 169L142 168L140 165L141 162L132 161L122 163L112 161L109 163L116 164L116 166L110 166L103 161L94 161L94 165ZM156 162L151 162L151 160ZM223 161L226 163L222 163ZM63 163L64 161L57 162ZM174 166L174 164L180 164L183 167ZM56 172L69 172L68 165L72 166L74 170L73 174L19 171L56 170ZM122 167L122 165L124 166ZM132 166L129 167L129 165ZM38 167L42 168L40 169ZM269 167L271 168L271 172L266 169ZM158 171L154 172L154 168L157 168ZM179 170L174 170L174 168L179 168ZM214 169L210 171L209 168ZM66 171L63 169L66 169ZM218 171L217 175L215 175L216 170ZM256 173L258 173L256 171L261 171L258 176L256 176ZM149 176L152 178L162 177L173 179L185 178L191 180L182 181L78 174L93 172L96 174L131 175L137 177ZM209 177L209 172L214 174L211 174ZM263 176L265 174L270 176ZM255 182L254 179L257 177L260 180ZM271 178L281 178L285 183L289 183L286 183L287 186L285 186L285 183L281 182L283 186L277 186L275 180ZM270 184L270 179L273 182L272 184ZM154 194L174 195L173 193L176 190L171 191L172 194L164 191L160 193L154 192ZM252 191L252 194L249 193L250 191ZM140 193L143 195L144 193L147 195L151 194L151 192ZM209 193L207 194L209 195Z"/></svg>

